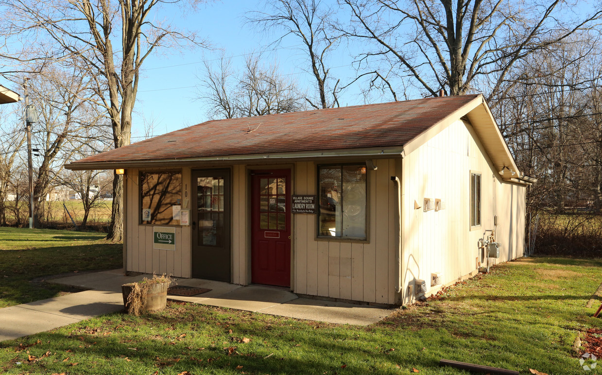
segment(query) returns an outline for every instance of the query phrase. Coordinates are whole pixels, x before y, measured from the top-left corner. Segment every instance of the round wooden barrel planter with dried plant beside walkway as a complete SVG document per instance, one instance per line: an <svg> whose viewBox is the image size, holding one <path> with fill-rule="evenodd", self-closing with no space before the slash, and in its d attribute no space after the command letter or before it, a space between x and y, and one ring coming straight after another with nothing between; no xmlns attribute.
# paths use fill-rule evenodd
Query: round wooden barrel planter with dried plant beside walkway
<svg viewBox="0 0 602 375"><path fill-rule="evenodd" d="M153 274L151 279L144 277L140 282L122 285L123 304L128 314L139 316L144 311L165 308L167 288L176 280L166 274Z"/></svg>

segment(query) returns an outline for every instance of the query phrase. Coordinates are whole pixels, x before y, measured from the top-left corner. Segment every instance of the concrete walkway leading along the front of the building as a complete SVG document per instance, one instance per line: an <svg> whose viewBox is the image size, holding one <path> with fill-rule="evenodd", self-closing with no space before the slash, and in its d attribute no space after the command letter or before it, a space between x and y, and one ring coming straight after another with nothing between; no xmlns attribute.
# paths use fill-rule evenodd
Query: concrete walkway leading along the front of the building
<svg viewBox="0 0 602 375"><path fill-rule="evenodd" d="M121 285L140 281L144 276L149 277L123 276L123 270L113 270L49 280L89 290L0 309L0 341L123 311ZM374 306L299 298L285 290L212 280L179 279L178 285L211 291L193 297L167 296L169 299L329 323L367 326L393 312Z"/></svg>

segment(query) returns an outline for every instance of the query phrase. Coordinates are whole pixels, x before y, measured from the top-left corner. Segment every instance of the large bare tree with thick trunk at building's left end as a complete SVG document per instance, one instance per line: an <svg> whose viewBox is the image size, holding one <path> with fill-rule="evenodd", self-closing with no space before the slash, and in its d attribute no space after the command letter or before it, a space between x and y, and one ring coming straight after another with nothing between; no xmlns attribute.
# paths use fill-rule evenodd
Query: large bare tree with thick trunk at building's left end
<svg viewBox="0 0 602 375"><path fill-rule="evenodd" d="M32 34L46 49L46 58L75 58L93 77L98 104L107 111L113 145L130 143L132 111L140 69L155 49L203 45L193 33L157 19L167 0L2 0L6 36ZM193 2L193 5L202 0ZM113 45L118 41L117 48ZM23 59L23 57L13 56ZM107 238L123 238L123 178L114 175L114 201Z"/></svg>

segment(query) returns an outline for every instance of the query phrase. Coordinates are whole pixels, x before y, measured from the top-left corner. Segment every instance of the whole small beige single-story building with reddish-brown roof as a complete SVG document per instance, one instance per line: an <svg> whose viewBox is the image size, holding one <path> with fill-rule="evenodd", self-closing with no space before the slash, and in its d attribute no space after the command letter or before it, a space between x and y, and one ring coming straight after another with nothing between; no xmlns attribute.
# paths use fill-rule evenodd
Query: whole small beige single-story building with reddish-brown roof
<svg viewBox="0 0 602 375"><path fill-rule="evenodd" d="M489 241L522 256L535 181L482 95L212 120L66 167L125 170L127 271L383 305L476 274Z"/></svg>

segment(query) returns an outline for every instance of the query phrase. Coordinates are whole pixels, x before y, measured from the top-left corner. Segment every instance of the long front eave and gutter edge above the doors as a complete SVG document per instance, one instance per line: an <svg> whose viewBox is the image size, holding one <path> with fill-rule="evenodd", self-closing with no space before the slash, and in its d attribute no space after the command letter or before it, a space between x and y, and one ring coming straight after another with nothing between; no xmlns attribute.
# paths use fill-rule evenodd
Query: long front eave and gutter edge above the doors
<svg viewBox="0 0 602 375"><path fill-rule="evenodd" d="M324 159L324 158L391 158L403 157L403 147L371 147L367 149L335 149L306 152L275 152L255 153L249 155L226 155L213 157L171 158L161 160L131 160L131 161L101 161L101 162L74 162L65 164L69 170L106 170L127 168L152 168L166 166L193 166L194 164L216 163L236 164L240 162L256 161L291 161L298 159Z"/></svg>

